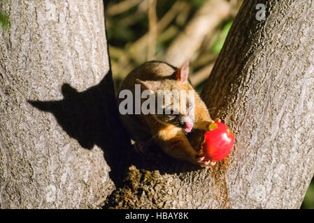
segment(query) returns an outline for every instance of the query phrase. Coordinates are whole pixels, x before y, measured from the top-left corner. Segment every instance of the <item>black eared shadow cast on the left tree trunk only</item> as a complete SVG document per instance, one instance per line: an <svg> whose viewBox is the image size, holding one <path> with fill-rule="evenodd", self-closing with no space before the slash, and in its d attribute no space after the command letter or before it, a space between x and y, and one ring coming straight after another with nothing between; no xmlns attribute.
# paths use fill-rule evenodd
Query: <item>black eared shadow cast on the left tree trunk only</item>
<svg viewBox="0 0 314 223"><path fill-rule="evenodd" d="M43 112L55 116L62 129L76 139L80 146L92 149L95 145L104 151L111 168L110 178L118 183L121 172L129 164L126 159L117 159L131 151L127 134L122 133L113 94L111 73L86 91L78 92L69 84L62 85L62 100L28 102Z"/></svg>

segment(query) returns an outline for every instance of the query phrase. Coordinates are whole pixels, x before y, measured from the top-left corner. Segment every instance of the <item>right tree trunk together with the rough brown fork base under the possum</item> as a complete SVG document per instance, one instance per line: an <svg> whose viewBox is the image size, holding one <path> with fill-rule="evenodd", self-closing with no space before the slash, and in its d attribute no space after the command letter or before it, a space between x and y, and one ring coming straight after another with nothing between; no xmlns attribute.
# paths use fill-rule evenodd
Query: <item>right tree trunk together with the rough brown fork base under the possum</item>
<svg viewBox="0 0 314 223"><path fill-rule="evenodd" d="M202 93L236 135L229 159L193 169L145 155L107 207L299 208L314 173L313 12L313 1L244 1Z"/></svg>

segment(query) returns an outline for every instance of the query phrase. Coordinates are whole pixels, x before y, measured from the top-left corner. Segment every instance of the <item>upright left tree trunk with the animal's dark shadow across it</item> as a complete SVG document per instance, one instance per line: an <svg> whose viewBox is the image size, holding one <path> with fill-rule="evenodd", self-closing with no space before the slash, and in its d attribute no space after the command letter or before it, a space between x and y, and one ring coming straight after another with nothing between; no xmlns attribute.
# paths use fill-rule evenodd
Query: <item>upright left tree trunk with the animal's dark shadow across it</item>
<svg viewBox="0 0 314 223"><path fill-rule="evenodd" d="M101 207L115 111L102 1L0 6L0 208Z"/></svg>

